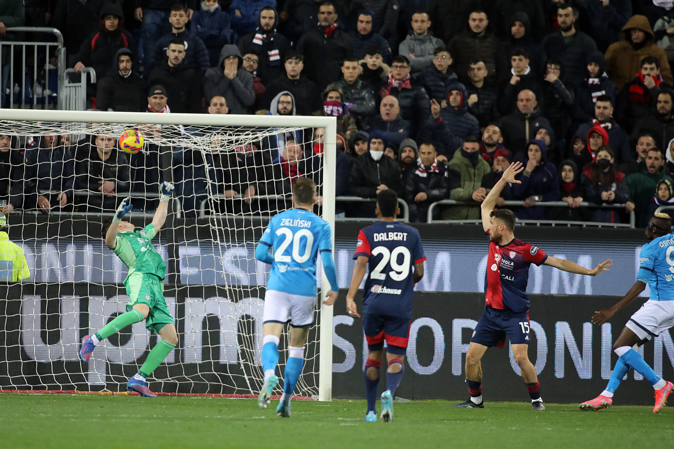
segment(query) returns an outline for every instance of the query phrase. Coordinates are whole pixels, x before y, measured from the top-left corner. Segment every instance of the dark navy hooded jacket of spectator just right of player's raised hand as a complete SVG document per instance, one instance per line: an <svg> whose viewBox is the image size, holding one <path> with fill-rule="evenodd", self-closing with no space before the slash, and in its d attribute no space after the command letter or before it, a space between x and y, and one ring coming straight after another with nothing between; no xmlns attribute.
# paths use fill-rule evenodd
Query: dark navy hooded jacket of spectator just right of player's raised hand
<svg viewBox="0 0 674 449"><path fill-rule="evenodd" d="M512 195L514 199L525 200L529 197L540 196L541 201L558 201L559 200L559 178L557 178L557 168L547 160L547 146L545 142L539 139L532 139L528 141L526 148L530 145L538 145L541 149L541 161L539 164L532 170L529 176L524 174L526 171L526 163L528 161L528 156L526 159L522 160L522 165L525 167L525 170L522 173L518 174L516 177L517 180L520 180L521 184L512 184ZM527 220L542 220L545 219L545 207L543 206L532 206L532 207L518 207L515 211L515 215L519 219Z"/></svg>

